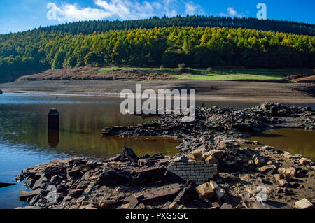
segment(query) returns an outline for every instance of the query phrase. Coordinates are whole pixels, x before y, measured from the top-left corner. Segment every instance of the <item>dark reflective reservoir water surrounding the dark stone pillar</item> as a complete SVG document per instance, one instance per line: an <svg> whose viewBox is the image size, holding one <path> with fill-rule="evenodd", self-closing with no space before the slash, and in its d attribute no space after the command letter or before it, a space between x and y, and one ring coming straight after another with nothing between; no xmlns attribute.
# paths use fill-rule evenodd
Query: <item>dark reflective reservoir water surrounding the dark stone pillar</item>
<svg viewBox="0 0 315 223"><path fill-rule="evenodd" d="M123 146L132 148L139 156L156 153L172 156L177 153L175 148L179 141L172 138L103 137L104 127L152 120L121 115L120 101L111 97L0 94L0 182L14 182L15 175L22 169L52 159L79 156L104 160L119 154ZM197 101L197 106L201 104ZM211 101L204 102L204 105L241 109L258 103ZM314 105L304 106L314 108ZM47 113L50 108L57 108L61 114L59 134L48 132ZM0 208L25 205L18 201L24 189L22 183L0 188Z"/></svg>

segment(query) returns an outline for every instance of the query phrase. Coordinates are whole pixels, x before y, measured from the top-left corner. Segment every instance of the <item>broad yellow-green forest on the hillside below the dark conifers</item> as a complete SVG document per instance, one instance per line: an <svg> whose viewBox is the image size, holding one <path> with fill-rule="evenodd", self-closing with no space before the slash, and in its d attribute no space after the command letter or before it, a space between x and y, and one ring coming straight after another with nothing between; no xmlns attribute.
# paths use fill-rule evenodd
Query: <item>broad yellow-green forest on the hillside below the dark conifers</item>
<svg viewBox="0 0 315 223"><path fill-rule="evenodd" d="M77 24L80 26L90 24L87 27L93 27L93 24L103 23ZM92 34L76 35L72 34L77 32L74 31L74 27L74 24L66 24L1 35L0 81L15 80L20 75L37 69L62 69L85 65L176 67L184 63L190 67L315 66L314 36L255 29L193 26L153 29L120 27L123 30L102 33L94 31ZM89 33L93 29L83 30Z"/></svg>

